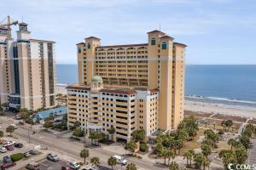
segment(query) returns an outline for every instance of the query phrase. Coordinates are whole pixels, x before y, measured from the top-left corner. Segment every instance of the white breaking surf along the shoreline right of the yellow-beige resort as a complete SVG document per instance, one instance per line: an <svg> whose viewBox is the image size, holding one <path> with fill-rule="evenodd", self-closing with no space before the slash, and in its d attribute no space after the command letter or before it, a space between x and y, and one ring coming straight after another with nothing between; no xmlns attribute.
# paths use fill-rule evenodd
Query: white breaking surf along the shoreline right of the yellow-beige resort
<svg viewBox="0 0 256 170"><path fill-rule="evenodd" d="M241 104L255 104L256 105L256 101L248 101L248 100L242 100L242 99L206 97L206 96L198 96L198 95L188 95L185 97L187 99L204 99L204 100L214 100L214 101L224 101L224 102L241 103Z"/></svg>

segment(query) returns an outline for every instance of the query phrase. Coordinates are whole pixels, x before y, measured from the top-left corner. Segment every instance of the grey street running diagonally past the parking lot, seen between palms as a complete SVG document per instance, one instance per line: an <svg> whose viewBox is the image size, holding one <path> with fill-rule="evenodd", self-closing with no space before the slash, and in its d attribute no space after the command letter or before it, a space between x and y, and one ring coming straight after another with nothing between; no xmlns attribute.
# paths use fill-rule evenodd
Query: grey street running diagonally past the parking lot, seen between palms
<svg viewBox="0 0 256 170"><path fill-rule="evenodd" d="M5 129L5 127L12 123L12 120L9 119L9 121L6 121L5 117L0 117L0 122L3 122L2 128ZM20 126L18 129L15 130L14 134L20 137L20 139L28 141L28 129L29 127ZM63 155L71 156L75 159L81 160L81 158L79 157L79 153L80 150L84 148L84 145L79 142L73 142L69 139L59 139L54 134L44 132L37 132L34 135L30 135L30 140L33 144L41 144L47 146L49 150L56 150ZM100 147L89 148L89 150L90 157L98 156L101 160L101 165L108 167L108 158L110 156L113 156L114 153L107 150L102 150L102 148ZM135 163L137 167L141 169L164 169L163 166L158 166L150 161L138 160L137 158L128 158L128 161Z"/></svg>

